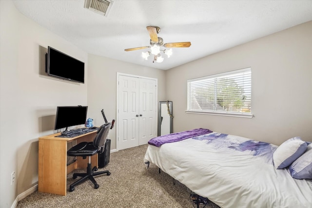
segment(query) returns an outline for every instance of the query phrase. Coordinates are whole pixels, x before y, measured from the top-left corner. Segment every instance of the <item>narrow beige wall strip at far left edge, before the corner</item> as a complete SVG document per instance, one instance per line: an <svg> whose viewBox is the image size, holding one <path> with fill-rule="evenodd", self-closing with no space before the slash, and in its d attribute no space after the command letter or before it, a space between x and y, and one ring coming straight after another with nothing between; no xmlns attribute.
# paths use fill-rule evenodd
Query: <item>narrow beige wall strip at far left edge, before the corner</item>
<svg viewBox="0 0 312 208"><path fill-rule="evenodd" d="M5 6L5 9L4 9ZM10 185L10 174L17 171L18 132L9 132L16 124L19 100L16 57L18 56L18 18L13 4L0 1L0 207L9 208L17 196L17 186ZM10 21L4 21L3 18ZM6 41L4 41L6 40ZM5 75L5 76L4 76ZM12 96L12 95L14 96ZM9 101L11 100L11 101ZM13 148L12 148L13 147ZM13 150L11 150L11 148Z"/></svg>

